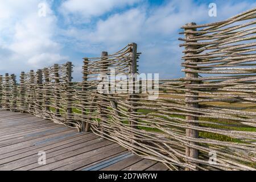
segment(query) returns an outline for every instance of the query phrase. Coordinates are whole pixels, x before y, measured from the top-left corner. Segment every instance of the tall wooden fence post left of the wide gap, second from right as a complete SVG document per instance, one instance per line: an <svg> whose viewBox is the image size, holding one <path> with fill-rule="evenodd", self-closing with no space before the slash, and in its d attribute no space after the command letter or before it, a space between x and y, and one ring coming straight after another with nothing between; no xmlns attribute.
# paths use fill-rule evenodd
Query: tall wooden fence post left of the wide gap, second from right
<svg viewBox="0 0 256 182"><path fill-rule="evenodd" d="M131 52L131 61L129 63L129 101L131 102L136 102L135 100L132 100L131 98L136 98L137 96L135 95L135 81L134 76L137 73L137 44L136 43L131 43L129 44ZM130 90L133 93L130 93ZM137 109L134 109L135 104L131 104L131 107L129 108L129 113L136 113ZM132 128L136 129L137 126L137 119L130 117L129 118L129 124L131 125Z"/></svg>

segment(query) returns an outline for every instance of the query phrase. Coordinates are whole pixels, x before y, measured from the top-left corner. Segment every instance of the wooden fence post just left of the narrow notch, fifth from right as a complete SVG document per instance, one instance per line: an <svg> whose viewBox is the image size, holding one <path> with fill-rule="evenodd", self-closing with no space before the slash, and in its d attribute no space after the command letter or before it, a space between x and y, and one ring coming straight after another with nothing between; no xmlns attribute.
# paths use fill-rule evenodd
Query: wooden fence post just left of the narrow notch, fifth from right
<svg viewBox="0 0 256 182"><path fill-rule="evenodd" d="M67 122L72 120L72 63L67 62ZM69 125L69 124L68 124Z"/></svg>

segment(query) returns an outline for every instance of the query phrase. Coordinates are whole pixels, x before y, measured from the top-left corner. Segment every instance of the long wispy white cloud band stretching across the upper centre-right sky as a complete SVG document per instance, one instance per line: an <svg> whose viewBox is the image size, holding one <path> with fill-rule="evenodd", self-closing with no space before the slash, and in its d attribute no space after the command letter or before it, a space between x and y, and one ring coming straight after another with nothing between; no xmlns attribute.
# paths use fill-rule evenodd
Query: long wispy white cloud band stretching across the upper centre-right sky
<svg viewBox="0 0 256 182"><path fill-rule="evenodd" d="M191 7L191 11L184 9L184 3L185 7ZM198 7L192 1L175 0L159 7L138 6L112 14L107 19L99 19L95 27L82 29L71 26L63 34L74 38L73 43L81 48L86 46L82 41L114 49L130 42L142 42L144 45L159 43L159 40L164 42L176 37L179 28L191 19L208 18L206 7Z"/></svg>

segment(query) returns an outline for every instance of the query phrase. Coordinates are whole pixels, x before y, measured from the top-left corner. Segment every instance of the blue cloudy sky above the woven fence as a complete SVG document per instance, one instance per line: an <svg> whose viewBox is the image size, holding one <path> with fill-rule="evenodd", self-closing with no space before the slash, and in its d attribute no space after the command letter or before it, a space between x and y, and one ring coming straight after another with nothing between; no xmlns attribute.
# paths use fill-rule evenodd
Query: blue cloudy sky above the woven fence
<svg viewBox="0 0 256 182"><path fill-rule="evenodd" d="M209 3L216 3L216 17L208 15ZM142 52L140 73L182 77L181 26L224 20L254 7L254 0L0 0L0 75L72 61L79 81L82 57L135 42Z"/></svg>

